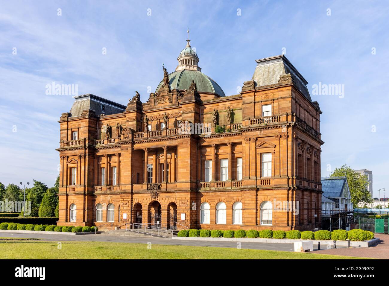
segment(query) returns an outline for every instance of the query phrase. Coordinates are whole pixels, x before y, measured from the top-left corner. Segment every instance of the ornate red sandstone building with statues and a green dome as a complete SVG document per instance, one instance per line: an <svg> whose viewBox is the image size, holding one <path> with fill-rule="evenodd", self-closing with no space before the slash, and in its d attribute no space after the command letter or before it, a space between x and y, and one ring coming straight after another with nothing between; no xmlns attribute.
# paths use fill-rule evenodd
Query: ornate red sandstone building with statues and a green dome
<svg viewBox="0 0 389 286"><path fill-rule="evenodd" d="M189 40L178 62L147 102L87 94L62 114L58 223L315 228L324 142L303 76L284 55L256 60L225 96Z"/></svg>

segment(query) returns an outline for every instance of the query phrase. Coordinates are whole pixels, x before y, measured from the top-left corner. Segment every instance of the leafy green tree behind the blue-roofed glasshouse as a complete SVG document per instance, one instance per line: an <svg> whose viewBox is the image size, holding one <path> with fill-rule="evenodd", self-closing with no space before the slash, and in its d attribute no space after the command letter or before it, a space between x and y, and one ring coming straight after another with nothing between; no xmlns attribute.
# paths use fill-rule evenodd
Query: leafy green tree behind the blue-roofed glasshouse
<svg viewBox="0 0 389 286"><path fill-rule="evenodd" d="M349 166L343 165L340 168L336 168L330 177L346 177L347 183L349 184L351 202L355 206L359 203L371 204L373 200L370 197L370 193L367 189L369 184L368 177L363 174L356 173Z"/></svg>

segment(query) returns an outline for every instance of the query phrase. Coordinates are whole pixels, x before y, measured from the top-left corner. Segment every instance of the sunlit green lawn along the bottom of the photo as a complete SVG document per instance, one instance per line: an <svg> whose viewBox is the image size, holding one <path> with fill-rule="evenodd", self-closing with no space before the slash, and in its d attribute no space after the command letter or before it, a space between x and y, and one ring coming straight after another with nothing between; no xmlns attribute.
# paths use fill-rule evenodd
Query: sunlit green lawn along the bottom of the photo
<svg viewBox="0 0 389 286"><path fill-rule="evenodd" d="M0 241L0 259L360 259L314 253L123 242Z"/></svg>

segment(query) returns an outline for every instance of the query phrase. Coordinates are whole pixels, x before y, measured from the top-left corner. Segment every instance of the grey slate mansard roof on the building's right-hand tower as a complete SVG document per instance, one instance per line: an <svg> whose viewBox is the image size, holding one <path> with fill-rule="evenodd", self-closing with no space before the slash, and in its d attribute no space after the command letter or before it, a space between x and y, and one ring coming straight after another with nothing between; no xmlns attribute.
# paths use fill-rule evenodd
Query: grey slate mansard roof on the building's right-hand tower
<svg viewBox="0 0 389 286"><path fill-rule="evenodd" d="M270 58L263 58L256 60L257 67L255 68L252 80L256 82L257 87L277 84L280 75L291 74L293 83L296 88L306 97L310 102L310 97L305 78L298 72L298 70L291 64L285 55L272 56Z"/></svg>

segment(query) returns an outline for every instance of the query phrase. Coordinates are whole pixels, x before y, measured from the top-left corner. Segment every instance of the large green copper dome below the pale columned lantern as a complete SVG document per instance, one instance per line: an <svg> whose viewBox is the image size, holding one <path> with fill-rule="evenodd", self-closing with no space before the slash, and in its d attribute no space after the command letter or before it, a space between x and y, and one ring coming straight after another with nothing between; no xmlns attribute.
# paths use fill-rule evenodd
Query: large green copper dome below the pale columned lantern
<svg viewBox="0 0 389 286"><path fill-rule="evenodd" d="M223 89L209 76L197 70L177 70L169 74L169 82L171 89L188 89L191 85L192 79L195 81L198 92L216 93L221 97L225 97ZM161 81L157 90L161 87Z"/></svg>

